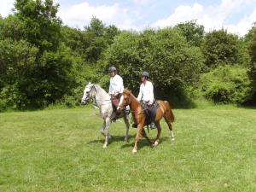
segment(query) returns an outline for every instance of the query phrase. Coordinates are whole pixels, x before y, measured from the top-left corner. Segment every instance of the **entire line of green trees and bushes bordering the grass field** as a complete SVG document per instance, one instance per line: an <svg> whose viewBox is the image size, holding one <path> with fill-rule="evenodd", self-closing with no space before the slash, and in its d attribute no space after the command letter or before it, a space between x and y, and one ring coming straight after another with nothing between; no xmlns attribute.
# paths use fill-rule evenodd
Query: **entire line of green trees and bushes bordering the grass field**
<svg viewBox="0 0 256 192"><path fill-rule="evenodd" d="M16 0L0 16L0 111L79 104L89 81L108 89L115 66L138 92L150 73L156 98L186 107L195 98L256 103L256 24L244 37L205 32L196 20L164 29L120 30L92 18L84 29L63 25L52 0Z"/></svg>

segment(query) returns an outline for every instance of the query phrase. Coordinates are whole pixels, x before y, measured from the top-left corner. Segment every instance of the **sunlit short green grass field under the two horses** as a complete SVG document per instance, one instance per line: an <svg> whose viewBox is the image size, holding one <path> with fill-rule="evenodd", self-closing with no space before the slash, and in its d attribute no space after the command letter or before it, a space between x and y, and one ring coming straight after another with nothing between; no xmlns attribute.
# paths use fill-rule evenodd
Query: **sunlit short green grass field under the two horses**
<svg viewBox="0 0 256 192"><path fill-rule="evenodd" d="M0 113L0 191L256 191L256 110L174 110L176 141L162 121L160 145L111 125L91 108ZM155 137L150 131L149 137Z"/></svg>

